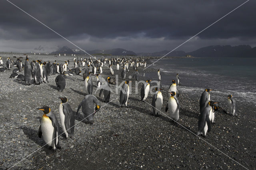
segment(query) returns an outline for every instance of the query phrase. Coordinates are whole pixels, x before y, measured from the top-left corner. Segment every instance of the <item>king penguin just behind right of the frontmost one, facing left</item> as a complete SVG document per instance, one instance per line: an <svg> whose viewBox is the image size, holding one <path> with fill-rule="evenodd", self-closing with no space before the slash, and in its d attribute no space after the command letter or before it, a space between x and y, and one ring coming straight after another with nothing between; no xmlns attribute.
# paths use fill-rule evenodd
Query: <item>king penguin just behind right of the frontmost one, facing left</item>
<svg viewBox="0 0 256 170"><path fill-rule="evenodd" d="M63 132L66 134L66 138L74 138L74 126L75 118L74 111L68 104L68 99L66 97L59 97L62 103L59 106L60 124Z"/></svg>

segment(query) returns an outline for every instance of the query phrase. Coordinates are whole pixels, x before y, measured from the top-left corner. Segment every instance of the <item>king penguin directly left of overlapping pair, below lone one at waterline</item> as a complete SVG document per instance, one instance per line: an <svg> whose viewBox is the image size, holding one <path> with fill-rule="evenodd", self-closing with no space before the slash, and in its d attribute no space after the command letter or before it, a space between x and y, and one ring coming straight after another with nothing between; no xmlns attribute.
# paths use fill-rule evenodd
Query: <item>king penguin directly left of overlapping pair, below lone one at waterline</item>
<svg viewBox="0 0 256 170"><path fill-rule="evenodd" d="M153 98L152 98L152 108L153 108L153 114L155 116L158 116L158 113L161 112L161 108L163 105L163 96L161 93L161 89L158 90L158 88L155 88L156 93L154 94Z"/></svg>

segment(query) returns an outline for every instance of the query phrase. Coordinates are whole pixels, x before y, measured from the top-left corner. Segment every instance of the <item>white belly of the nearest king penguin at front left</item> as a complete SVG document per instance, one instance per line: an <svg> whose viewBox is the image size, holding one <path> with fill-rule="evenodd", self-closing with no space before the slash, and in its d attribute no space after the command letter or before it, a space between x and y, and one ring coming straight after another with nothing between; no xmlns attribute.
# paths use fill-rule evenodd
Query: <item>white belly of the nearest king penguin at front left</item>
<svg viewBox="0 0 256 170"><path fill-rule="evenodd" d="M49 146L52 146L55 149L54 145L54 127L52 126L52 121L50 120L49 117L43 116L42 121L41 121L41 130L42 130L42 135L44 137L44 142L48 144ZM57 132L58 136L58 132ZM58 143L58 138L56 138L57 143Z"/></svg>

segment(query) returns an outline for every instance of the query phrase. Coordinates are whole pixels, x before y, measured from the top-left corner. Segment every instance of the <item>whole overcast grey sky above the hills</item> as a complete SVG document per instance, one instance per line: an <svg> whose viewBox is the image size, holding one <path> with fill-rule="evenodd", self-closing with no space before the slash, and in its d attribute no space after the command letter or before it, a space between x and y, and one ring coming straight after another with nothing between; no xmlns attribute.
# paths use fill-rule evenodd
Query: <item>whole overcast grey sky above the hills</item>
<svg viewBox="0 0 256 170"><path fill-rule="evenodd" d="M246 0L10 0L82 49L172 50ZM250 0L176 50L256 46ZM6 0L0 4L0 51L76 48Z"/></svg>

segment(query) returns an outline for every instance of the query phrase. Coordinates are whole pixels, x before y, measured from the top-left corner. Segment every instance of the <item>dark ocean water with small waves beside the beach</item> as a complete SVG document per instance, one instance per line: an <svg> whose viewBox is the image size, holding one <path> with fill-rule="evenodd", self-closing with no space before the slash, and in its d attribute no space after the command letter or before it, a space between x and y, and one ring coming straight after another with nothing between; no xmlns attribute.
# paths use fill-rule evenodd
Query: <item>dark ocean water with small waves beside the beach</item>
<svg viewBox="0 0 256 170"><path fill-rule="evenodd" d="M162 86L169 86L179 73L182 90L208 88L256 104L256 58L170 58L151 67L160 69ZM157 72L146 76L157 79Z"/></svg>

